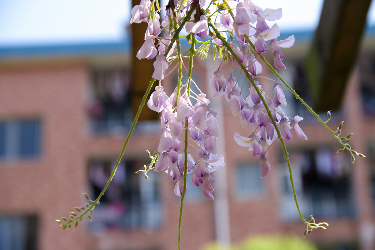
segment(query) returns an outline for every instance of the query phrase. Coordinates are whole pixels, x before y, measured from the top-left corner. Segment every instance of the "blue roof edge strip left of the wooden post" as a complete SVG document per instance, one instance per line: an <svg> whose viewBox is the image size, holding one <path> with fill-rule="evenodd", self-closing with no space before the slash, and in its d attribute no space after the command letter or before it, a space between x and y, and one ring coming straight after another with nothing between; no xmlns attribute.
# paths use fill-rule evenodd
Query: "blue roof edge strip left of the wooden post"
<svg viewBox="0 0 375 250"><path fill-rule="evenodd" d="M129 40L113 43L0 47L0 60L17 58L77 58L129 54Z"/></svg>

